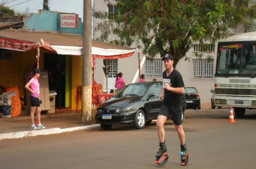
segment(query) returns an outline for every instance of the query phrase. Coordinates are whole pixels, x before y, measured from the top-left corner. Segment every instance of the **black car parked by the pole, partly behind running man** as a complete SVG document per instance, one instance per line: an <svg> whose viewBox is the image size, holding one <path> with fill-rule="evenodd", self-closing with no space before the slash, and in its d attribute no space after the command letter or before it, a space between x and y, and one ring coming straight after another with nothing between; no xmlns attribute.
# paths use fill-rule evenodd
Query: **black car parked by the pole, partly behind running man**
<svg viewBox="0 0 256 169"><path fill-rule="evenodd" d="M103 129L112 125L133 124L135 128L145 127L157 120L160 110L163 82L137 82L128 84L110 100L99 105L96 122Z"/></svg>

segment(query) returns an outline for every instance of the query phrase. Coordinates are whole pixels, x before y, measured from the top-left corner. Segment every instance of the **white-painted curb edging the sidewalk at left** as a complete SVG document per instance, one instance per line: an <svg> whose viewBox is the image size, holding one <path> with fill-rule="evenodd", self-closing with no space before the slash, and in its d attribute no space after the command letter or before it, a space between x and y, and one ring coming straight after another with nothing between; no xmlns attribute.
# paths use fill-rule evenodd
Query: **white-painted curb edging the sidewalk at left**
<svg viewBox="0 0 256 169"><path fill-rule="evenodd" d="M43 130L31 130L31 131L24 131L24 132L9 132L0 134L0 140L4 139L14 139L14 138L22 138L22 137L32 137L37 135L54 135L60 134L62 132L73 132L77 130L88 130L93 128L98 128L100 125L87 125L81 127L69 127L60 129L60 127L50 128L50 129L43 129Z"/></svg>

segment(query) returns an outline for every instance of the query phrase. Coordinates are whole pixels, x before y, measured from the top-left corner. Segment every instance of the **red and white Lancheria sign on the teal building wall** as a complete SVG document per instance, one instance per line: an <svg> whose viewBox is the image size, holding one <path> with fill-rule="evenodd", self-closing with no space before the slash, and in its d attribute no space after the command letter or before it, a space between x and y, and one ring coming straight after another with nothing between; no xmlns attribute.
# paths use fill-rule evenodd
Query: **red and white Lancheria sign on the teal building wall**
<svg viewBox="0 0 256 169"><path fill-rule="evenodd" d="M78 14L61 14L61 28L78 28Z"/></svg>

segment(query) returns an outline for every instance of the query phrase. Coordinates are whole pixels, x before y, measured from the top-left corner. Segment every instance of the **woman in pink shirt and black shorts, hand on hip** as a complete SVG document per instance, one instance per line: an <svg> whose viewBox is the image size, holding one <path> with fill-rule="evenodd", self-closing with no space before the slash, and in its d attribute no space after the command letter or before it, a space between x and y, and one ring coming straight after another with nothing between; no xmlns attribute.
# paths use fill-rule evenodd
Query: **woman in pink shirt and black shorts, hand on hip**
<svg viewBox="0 0 256 169"><path fill-rule="evenodd" d="M34 69L31 73L29 78L29 82L25 85L25 88L31 92L30 95L30 105L31 105L31 112L30 112L30 120L31 120L31 129L32 130L37 130L39 129L44 129L45 126L41 124L41 108L40 108L40 84L38 82L38 78L40 77L40 69ZM37 120L38 120L38 125L35 126L34 123L34 114L37 111Z"/></svg>

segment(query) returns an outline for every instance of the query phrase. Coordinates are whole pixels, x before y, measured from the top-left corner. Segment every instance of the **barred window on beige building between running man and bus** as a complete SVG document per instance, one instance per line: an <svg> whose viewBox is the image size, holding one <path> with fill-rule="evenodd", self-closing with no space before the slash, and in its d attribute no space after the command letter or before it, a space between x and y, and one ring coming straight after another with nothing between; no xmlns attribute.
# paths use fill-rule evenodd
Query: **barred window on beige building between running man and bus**
<svg viewBox="0 0 256 169"><path fill-rule="evenodd" d="M214 59L193 59L193 78L214 78Z"/></svg>

